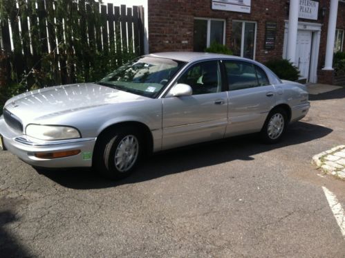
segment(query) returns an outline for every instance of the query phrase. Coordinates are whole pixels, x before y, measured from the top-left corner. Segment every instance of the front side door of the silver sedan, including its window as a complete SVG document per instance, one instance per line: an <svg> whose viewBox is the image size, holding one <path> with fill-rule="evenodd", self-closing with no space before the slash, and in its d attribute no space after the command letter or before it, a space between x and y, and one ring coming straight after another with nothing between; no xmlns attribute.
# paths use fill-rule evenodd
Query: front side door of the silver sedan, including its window
<svg viewBox="0 0 345 258"><path fill-rule="evenodd" d="M166 97L162 102L162 149L223 138L227 125L227 93L217 60L198 62L176 80L192 95ZM169 94L168 94L169 95Z"/></svg>

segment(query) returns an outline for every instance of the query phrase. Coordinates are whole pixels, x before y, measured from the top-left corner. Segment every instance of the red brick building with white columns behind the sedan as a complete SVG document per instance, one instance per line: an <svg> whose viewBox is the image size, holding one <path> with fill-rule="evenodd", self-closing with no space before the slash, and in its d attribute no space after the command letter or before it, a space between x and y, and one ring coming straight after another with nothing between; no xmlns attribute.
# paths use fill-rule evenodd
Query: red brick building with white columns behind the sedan
<svg viewBox="0 0 345 258"><path fill-rule="evenodd" d="M290 59L306 80L331 83L330 48L331 58L333 51L344 48L344 0L149 0L147 4L150 53L203 51L216 41L234 55L259 62Z"/></svg>

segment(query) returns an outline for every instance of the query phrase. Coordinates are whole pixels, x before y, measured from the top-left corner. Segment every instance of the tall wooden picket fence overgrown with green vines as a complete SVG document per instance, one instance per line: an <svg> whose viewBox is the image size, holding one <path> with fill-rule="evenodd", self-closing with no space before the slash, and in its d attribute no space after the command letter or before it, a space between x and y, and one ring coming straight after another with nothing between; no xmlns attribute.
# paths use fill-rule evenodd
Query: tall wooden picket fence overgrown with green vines
<svg viewBox="0 0 345 258"><path fill-rule="evenodd" d="M8 17L0 17L6 81L24 82L30 89L33 84L95 80L144 53L142 6L94 0L65 1L67 6L62 6L63 2L8 1Z"/></svg>

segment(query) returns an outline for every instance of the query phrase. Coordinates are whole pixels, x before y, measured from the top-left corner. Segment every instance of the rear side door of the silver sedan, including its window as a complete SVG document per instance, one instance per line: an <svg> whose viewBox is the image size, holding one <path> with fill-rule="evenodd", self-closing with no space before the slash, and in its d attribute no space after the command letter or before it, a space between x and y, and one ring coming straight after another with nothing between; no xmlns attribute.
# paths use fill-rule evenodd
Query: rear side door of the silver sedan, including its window
<svg viewBox="0 0 345 258"><path fill-rule="evenodd" d="M228 83L229 112L225 136L260 131L276 102L276 90L262 68L252 62L223 62Z"/></svg>

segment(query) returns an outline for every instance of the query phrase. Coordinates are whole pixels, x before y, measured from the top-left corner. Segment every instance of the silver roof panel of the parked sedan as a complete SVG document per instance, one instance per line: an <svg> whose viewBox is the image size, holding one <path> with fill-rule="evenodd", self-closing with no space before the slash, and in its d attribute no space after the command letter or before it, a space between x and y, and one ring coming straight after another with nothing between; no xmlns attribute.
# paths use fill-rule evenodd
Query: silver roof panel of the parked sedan
<svg viewBox="0 0 345 258"><path fill-rule="evenodd" d="M241 57L236 57L234 55L223 55L215 53L202 53L202 52L161 52L161 53L152 53L147 56L151 57L162 57L174 59L182 62L194 62L204 59L213 59L213 58L236 58L241 59ZM245 59L245 58L243 58Z"/></svg>

